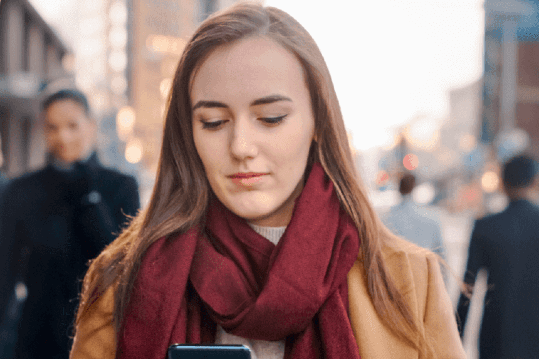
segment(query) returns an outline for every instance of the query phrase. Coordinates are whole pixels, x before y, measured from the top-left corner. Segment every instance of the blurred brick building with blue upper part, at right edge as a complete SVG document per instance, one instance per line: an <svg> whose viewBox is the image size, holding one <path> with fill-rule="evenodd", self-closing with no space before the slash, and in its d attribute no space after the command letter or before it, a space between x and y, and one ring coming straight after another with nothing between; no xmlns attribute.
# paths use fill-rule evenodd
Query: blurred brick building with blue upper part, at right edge
<svg viewBox="0 0 539 359"><path fill-rule="evenodd" d="M499 147L502 158L504 149L539 156L538 10L539 0L485 2L481 141ZM504 136L515 128L524 132Z"/></svg>

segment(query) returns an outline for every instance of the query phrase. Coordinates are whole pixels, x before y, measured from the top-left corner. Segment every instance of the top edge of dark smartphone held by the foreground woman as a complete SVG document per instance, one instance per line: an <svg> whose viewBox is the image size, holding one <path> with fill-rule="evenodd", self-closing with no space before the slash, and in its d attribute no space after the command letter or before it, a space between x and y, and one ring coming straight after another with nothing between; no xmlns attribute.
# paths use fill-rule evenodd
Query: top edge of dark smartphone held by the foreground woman
<svg viewBox="0 0 539 359"><path fill-rule="evenodd" d="M172 344L168 359L251 359L251 350L239 344Z"/></svg>

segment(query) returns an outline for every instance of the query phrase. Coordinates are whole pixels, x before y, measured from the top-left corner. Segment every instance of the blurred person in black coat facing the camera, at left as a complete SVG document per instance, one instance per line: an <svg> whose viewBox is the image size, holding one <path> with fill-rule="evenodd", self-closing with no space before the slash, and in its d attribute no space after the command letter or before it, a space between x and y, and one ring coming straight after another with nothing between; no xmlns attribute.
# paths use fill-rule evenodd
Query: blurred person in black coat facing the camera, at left
<svg viewBox="0 0 539 359"><path fill-rule="evenodd" d="M27 294L15 318L18 359L68 357L87 263L140 206L135 178L101 165L82 93L49 96L43 115L49 164L13 180L1 211L0 320L13 321L12 293Z"/></svg>

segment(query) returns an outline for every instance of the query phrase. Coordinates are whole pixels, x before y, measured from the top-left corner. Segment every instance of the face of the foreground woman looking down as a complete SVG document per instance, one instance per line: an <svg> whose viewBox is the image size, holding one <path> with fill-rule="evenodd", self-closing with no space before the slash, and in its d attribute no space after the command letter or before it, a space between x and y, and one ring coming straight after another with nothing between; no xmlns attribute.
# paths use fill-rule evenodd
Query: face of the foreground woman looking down
<svg viewBox="0 0 539 359"><path fill-rule="evenodd" d="M195 146L213 193L253 224L286 226L315 128L300 62L270 39L240 40L210 54L190 96Z"/></svg>

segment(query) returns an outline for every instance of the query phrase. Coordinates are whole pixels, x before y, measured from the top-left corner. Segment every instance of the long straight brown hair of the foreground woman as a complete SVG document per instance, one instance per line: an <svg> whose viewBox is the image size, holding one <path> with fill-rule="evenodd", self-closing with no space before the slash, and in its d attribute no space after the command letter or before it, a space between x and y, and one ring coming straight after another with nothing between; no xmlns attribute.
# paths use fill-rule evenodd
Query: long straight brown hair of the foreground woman
<svg viewBox="0 0 539 359"><path fill-rule="evenodd" d="M342 207L356 223L362 238L360 258L376 311L400 339L423 350L419 319L414 318L385 267L382 247L391 234L371 207L356 171L326 62L313 38L294 18L281 10L251 3L234 5L206 19L186 45L169 97L157 180L149 206L91 264L84 281L77 324L99 295L112 285L113 321L118 336L146 250L158 238L172 238L202 220L210 188L192 137L190 83L212 51L247 37L272 39L300 61L315 117L316 142L309 163L321 162L335 185Z"/></svg>

